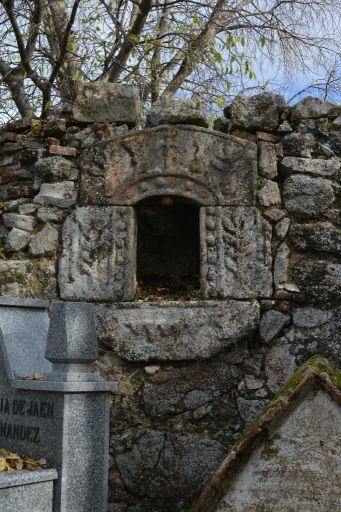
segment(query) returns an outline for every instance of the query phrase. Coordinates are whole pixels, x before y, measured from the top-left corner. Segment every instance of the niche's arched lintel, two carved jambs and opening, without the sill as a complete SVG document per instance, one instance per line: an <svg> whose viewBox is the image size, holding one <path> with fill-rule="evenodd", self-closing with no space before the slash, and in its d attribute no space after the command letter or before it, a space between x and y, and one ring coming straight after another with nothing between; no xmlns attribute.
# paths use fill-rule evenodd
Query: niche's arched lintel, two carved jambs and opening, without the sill
<svg viewBox="0 0 341 512"><path fill-rule="evenodd" d="M83 206L63 228L61 297L134 301L145 267L189 276L199 299L270 297L271 227L254 206L256 163L254 143L193 126L90 148Z"/></svg>

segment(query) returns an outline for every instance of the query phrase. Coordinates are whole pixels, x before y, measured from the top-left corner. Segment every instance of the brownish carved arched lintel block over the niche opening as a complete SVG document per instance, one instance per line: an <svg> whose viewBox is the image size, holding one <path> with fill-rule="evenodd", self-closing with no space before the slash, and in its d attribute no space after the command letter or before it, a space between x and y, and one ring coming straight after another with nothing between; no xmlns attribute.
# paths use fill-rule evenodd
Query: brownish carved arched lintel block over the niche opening
<svg viewBox="0 0 341 512"><path fill-rule="evenodd" d="M201 205L252 205L256 145L196 126L160 126L101 141L84 152L81 198L134 205L178 195Z"/></svg>

